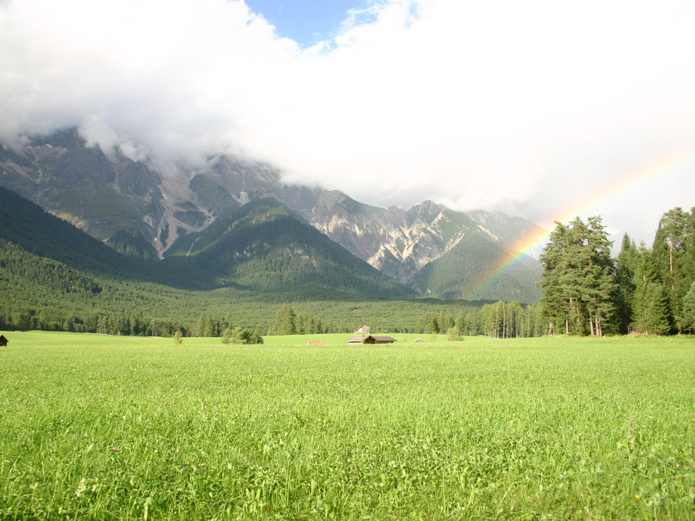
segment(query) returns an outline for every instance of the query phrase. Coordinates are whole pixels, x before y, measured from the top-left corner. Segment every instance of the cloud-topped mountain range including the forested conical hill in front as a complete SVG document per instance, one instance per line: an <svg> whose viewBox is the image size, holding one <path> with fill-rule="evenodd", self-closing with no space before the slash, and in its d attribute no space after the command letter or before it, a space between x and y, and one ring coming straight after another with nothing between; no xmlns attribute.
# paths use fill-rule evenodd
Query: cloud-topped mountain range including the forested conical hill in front
<svg viewBox="0 0 695 521"><path fill-rule="evenodd" d="M527 258L480 292L539 226L432 201L407 210L288 185L265 163L210 158L163 176L146 161L88 147L76 129L0 145L0 186L17 192L159 276L269 290L313 283L384 297L532 302L541 266Z"/></svg>

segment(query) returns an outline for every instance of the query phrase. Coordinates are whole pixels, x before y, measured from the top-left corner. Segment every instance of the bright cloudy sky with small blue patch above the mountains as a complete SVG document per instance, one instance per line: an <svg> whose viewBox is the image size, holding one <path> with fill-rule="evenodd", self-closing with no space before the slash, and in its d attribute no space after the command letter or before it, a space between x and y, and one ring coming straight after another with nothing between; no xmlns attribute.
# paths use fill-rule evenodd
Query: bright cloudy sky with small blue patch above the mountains
<svg viewBox="0 0 695 521"><path fill-rule="evenodd" d="M651 245L695 206L692 0L0 0L0 142L79 126L187 175L215 154Z"/></svg>

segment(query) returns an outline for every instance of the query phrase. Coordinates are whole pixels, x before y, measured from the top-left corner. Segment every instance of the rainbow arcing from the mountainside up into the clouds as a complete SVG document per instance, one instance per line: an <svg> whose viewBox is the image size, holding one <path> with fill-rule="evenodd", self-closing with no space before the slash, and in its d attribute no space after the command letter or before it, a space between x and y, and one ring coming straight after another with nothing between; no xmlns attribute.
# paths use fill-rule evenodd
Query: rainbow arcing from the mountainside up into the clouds
<svg viewBox="0 0 695 521"><path fill-rule="evenodd" d="M480 277L480 280L473 286L471 300L480 299L502 277L511 274L518 267L530 262L531 258L538 258L543 247L548 242L550 231L555 229L555 222L566 223L577 216L588 216L598 206L621 192L635 188L635 186L655 176L671 176L676 173L679 167L691 162L695 162L695 146L672 151L670 154L660 156L655 160L639 165L635 169L630 169L614 177L614 179L606 181L603 185L592 186L591 195L582 194L580 198L575 199L573 204L563 208L561 213L546 219L546 222L541 224L542 233L523 238L516 245L514 251L510 251L507 256L500 258L489 270L486 270L484 275Z"/></svg>

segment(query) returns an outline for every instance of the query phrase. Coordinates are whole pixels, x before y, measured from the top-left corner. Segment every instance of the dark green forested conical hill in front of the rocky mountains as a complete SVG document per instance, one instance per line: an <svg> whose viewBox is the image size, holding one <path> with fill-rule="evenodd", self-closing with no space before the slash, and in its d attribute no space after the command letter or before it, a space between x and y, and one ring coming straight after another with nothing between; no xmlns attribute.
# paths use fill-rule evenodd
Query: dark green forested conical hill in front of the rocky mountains
<svg viewBox="0 0 695 521"><path fill-rule="evenodd" d="M174 243L165 265L181 258L215 276L220 285L252 290L307 284L385 298L415 292L379 273L332 242L275 199L254 199L220 215L204 231ZM190 244L190 246L188 246Z"/></svg>

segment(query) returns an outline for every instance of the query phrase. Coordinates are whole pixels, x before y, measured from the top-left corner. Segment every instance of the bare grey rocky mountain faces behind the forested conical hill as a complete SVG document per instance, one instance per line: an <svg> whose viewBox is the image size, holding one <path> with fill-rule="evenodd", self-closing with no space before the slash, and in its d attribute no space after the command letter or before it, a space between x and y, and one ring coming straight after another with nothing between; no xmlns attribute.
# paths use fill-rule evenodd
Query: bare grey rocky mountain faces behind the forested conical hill
<svg viewBox="0 0 695 521"><path fill-rule="evenodd" d="M338 191L284 185L272 166L228 156L164 178L147 163L86 147L74 129L36 138L20 150L0 146L0 185L119 251L145 257L163 256L178 238L206 229L230 208L275 197L355 256L410 286L418 286L418 273L464 238L466 244L475 237L482 240L476 245L506 251L541 232L519 217L461 213L432 201L409 210L369 206Z"/></svg>

